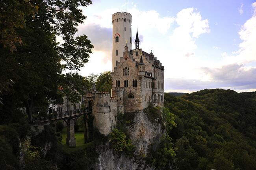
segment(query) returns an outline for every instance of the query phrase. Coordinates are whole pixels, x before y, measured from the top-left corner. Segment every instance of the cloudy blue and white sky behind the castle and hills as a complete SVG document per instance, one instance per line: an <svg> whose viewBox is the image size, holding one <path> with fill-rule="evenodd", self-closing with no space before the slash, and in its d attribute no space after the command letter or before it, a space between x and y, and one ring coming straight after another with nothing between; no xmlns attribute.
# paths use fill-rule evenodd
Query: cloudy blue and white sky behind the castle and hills
<svg viewBox="0 0 256 170"><path fill-rule="evenodd" d="M113 13L125 0L93 0L76 35L94 45L82 76L112 69ZM132 48L152 50L165 66L165 92L201 89L256 91L255 0L127 0L132 14Z"/></svg>

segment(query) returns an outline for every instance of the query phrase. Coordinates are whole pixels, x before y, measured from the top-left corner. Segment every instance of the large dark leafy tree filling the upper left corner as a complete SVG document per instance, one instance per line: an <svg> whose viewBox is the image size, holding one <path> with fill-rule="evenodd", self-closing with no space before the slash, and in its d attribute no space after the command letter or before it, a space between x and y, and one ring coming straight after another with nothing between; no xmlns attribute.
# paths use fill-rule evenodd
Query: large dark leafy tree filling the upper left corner
<svg viewBox="0 0 256 170"><path fill-rule="evenodd" d="M19 4L21 2L17 2L19 6L22 5ZM61 100L59 87L64 87L66 93L69 92L68 88L78 88L75 89L76 93L81 90L78 83L83 78L77 76L76 71L88 61L93 45L86 35L74 38L76 26L86 18L79 7L91 4L90 0L28 2L37 10L26 13L26 7L22 6L20 10L27 14L24 15L24 20L21 18L25 25L14 28L15 35L19 35L24 45L16 46L17 52L13 53L0 46L0 83L9 79L14 82L12 94L5 94L3 103L8 103L4 100L15 98L19 102L12 104L26 107L28 118L32 122L32 114L35 113L33 108L47 105L48 100ZM12 3L16 1L11 0L6 6L9 7ZM3 15L10 17L11 14ZM56 42L56 36L61 36L64 42ZM73 73L62 74L64 70ZM77 95L69 97L72 96L76 100Z"/></svg>

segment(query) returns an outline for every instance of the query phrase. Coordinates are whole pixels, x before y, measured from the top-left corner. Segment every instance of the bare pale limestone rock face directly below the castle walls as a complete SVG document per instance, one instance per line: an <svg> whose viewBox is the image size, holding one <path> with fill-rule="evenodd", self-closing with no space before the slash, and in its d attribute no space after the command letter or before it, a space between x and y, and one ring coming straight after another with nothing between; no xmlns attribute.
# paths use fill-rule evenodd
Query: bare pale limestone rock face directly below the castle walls
<svg viewBox="0 0 256 170"><path fill-rule="evenodd" d="M165 130L161 127L160 121L150 122L143 111L135 113L133 122L132 125L127 126L127 132L136 147L134 155L147 156L150 144L157 146ZM124 154L115 155L113 149L109 147L109 142L99 146L98 153L95 170L154 170L153 167L145 168L145 162L137 163L134 158L129 159Z"/></svg>

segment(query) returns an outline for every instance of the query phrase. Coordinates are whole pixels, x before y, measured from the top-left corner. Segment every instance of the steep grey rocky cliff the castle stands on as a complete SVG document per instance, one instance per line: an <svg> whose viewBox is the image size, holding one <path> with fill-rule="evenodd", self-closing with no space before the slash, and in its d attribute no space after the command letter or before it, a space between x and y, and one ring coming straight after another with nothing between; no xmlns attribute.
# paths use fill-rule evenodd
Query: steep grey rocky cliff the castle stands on
<svg viewBox="0 0 256 170"><path fill-rule="evenodd" d="M153 170L144 158L150 154L150 148L157 148L161 136L165 133L161 114L152 116L146 110L125 113L119 122L135 146L133 157L128 158L124 153L115 154L108 140L97 148L98 160L95 170Z"/></svg>

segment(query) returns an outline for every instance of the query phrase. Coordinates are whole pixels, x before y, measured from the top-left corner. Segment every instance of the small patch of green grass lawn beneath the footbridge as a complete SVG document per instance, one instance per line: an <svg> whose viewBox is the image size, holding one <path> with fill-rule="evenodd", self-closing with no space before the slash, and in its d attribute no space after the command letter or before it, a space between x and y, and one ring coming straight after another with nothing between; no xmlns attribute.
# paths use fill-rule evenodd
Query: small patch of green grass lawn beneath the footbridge
<svg viewBox="0 0 256 170"><path fill-rule="evenodd" d="M66 144L66 138L67 138L67 127L63 128L62 132L61 132L61 136L62 136L62 140L61 140L61 144L63 145L63 149L65 152L67 153L74 153L77 152L79 150L83 150L89 146L91 146L93 144L93 142L89 142L89 143L84 143L84 138L83 138L83 132L79 131L75 133L75 138L76 138L76 148L69 148L69 146L67 146Z"/></svg>

